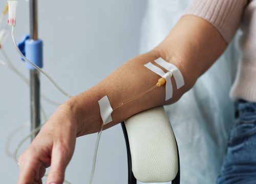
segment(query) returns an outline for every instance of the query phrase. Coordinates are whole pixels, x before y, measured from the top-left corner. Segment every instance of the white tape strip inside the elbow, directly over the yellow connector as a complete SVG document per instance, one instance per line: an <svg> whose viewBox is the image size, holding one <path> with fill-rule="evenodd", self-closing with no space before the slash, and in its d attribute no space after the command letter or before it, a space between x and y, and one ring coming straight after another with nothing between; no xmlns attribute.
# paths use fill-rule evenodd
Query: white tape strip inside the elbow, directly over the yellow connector
<svg viewBox="0 0 256 184"><path fill-rule="evenodd" d="M166 80L165 101L171 99L173 97L173 84L172 84L172 80L170 80L170 77L172 76L172 73L169 73L169 72L164 73L164 71L161 68L155 66L151 62L145 64L144 66L147 67L152 72L156 73L157 75L165 78L165 80Z"/></svg>

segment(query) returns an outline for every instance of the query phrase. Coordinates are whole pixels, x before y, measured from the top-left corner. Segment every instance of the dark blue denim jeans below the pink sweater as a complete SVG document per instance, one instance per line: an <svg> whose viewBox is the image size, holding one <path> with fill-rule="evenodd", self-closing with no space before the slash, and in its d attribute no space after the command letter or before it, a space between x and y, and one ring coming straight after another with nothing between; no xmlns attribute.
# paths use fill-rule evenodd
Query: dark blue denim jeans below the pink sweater
<svg viewBox="0 0 256 184"><path fill-rule="evenodd" d="M239 100L218 184L256 183L256 103Z"/></svg>

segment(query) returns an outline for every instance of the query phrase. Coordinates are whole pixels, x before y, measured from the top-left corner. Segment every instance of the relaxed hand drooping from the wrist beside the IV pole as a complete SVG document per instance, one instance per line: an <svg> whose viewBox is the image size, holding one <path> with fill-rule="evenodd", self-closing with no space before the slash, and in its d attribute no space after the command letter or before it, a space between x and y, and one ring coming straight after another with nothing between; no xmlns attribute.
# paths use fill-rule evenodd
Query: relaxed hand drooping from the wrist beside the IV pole
<svg viewBox="0 0 256 184"><path fill-rule="evenodd" d="M72 108L61 105L19 157L18 184L42 183L51 166L47 184L60 184L75 149L77 121Z"/></svg>

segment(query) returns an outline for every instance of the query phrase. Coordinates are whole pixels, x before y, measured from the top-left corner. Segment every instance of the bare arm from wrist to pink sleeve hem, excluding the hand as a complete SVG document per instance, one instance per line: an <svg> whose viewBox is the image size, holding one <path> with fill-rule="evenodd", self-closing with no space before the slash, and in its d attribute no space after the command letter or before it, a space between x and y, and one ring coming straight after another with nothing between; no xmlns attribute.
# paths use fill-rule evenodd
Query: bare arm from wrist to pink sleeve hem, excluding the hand
<svg viewBox="0 0 256 184"><path fill-rule="evenodd" d="M222 54L226 45L219 32L207 21L195 16L182 17L167 38L153 51L127 61L99 84L66 102L72 106L77 116L77 136L99 130L102 120L98 101L103 96L107 95L114 107L156 84L160 77L144 64L154 63L155 59L162 57L179 68L185 85L178 90L173 85L173 98L168 101L165 101L165 86L161 86L121 106L113 111L113 121L104 128L114 126L140 111L176 102ZM173 78L172 83L175 84Z"/></svg>

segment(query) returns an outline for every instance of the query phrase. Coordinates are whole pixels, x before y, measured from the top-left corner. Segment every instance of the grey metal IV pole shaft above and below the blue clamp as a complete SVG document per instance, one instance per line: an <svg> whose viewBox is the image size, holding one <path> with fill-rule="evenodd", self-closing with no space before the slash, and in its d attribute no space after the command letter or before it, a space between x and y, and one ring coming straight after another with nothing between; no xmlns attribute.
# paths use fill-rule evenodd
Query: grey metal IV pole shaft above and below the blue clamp
<svg viewBox="0 0 256 184"><path fill-rule="evenodd" d="M37 0L29 1L30 11L30 39L38 39L37 25ZM40 81L37 70L30 70L30 120L31 131L40 126ZM31 136L31 141L35 138L36 132Z"/></svg>

